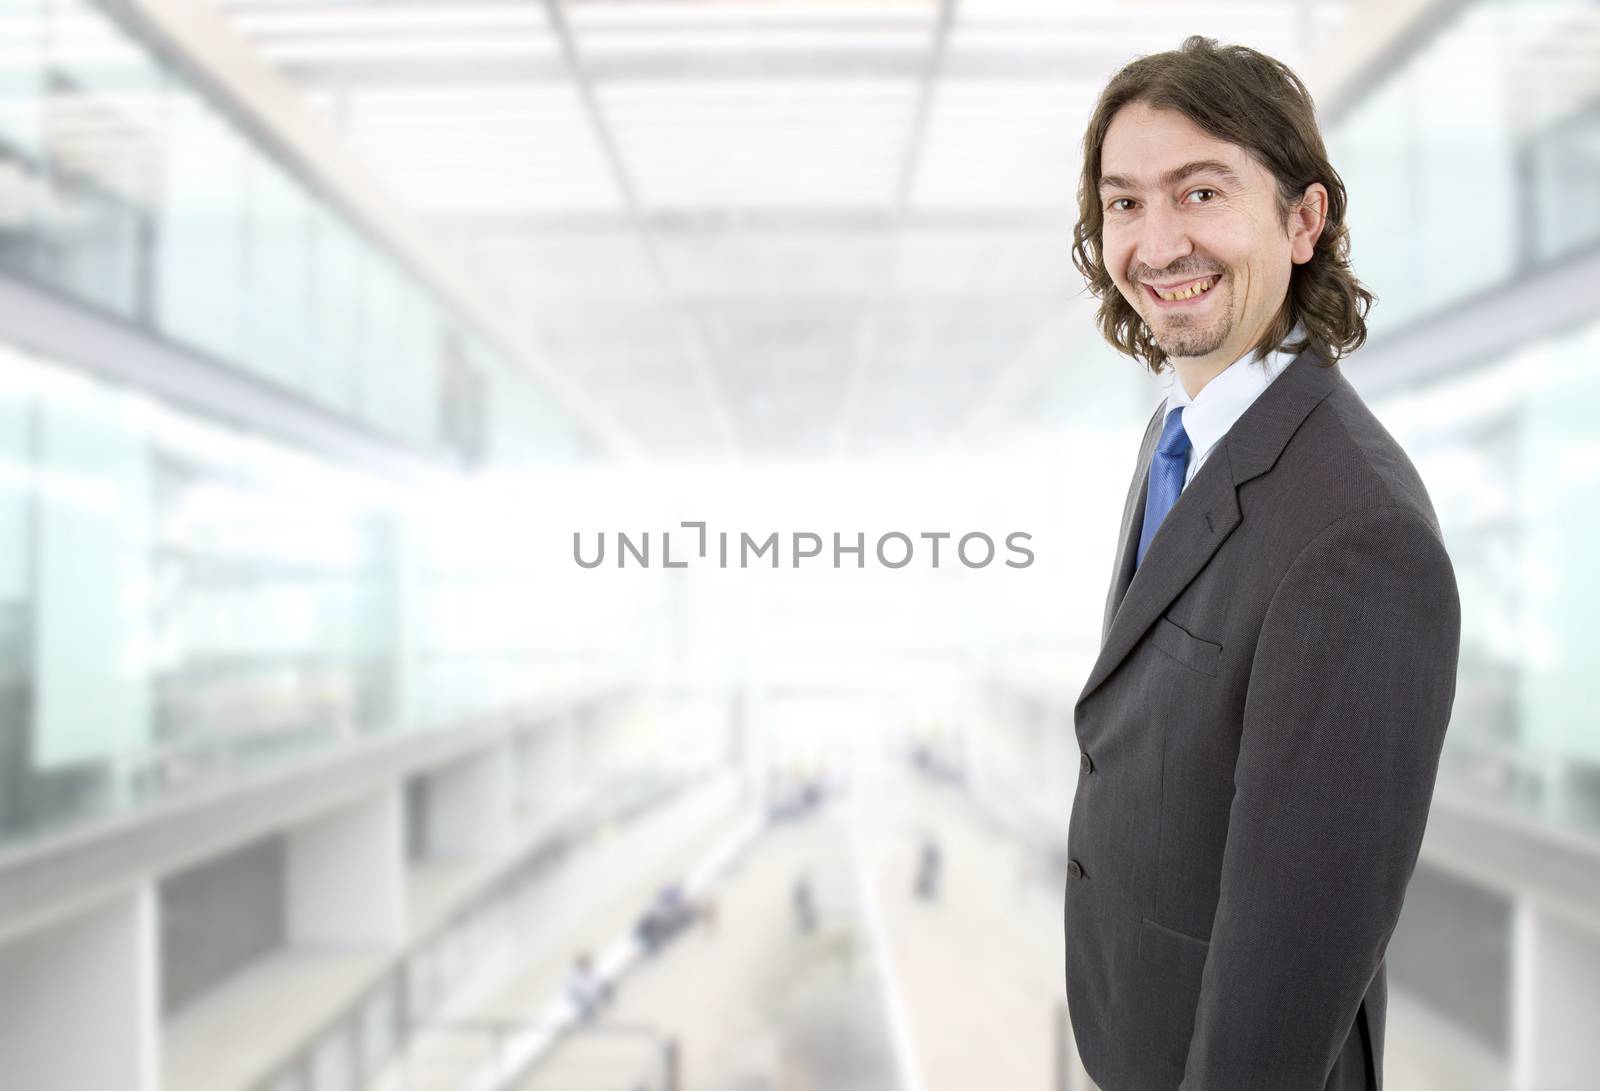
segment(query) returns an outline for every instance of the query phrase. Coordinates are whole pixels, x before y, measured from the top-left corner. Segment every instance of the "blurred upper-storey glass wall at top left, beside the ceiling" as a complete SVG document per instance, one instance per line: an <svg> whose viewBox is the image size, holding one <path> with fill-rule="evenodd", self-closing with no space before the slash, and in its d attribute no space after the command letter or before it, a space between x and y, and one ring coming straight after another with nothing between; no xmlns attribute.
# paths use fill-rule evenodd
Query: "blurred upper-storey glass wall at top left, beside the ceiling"
<svg viewBox="0 0 1600 1091"><path fill-rule="evenodd" d="M469 397L542 429L547 459L584 450L539 384L278 158L98 3L0 10L0 272L426 453L493 453L464 430L486 422Z"/></svg>

